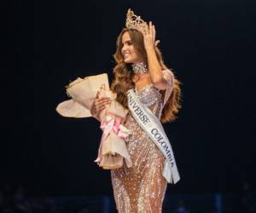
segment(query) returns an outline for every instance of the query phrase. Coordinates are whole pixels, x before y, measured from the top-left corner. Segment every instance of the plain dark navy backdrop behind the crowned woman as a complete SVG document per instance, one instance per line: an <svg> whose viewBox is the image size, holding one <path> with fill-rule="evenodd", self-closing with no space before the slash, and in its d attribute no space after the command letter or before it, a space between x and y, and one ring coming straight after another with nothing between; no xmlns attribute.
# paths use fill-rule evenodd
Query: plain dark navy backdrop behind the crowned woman
<svg viewBox="0 0 256 213"><path fill-rule="evenodd" d="M3 21L0 184L42 195L111 194L93 162L93 118L63 118L65 85L108 72L128 8L152 20L166 65L183 83L164 124L181 181L167 193L255 192L254 1L15 1ZM4 10L4 9L3 9ZM8 11L8 10L7 10ZM6 30L5 30L6 29ZM6 42L5 42L6 41Z"/></svg>

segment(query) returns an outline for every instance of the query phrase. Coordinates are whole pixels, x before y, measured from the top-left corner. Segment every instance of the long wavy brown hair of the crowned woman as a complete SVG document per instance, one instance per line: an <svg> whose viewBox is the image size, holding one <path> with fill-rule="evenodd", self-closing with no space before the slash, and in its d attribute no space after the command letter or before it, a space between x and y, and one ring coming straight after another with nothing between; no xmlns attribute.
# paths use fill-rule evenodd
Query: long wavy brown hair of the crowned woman
<svg viewBox="0 0 256 213"><path fill-rule="evenodd" d="M111 84L111 89L117 94L117 101L119 101L119 103L122 104L124 107L127 107L128 100L126 92L128 89L131 89L135 86L135 83L133 82L135 74L132 71L131 64L126 64L124 62L124 57L121 53L121 49L123 47L122 36L125 32L129 33L131 37L131 42L135 47L137 55L142 56L143 60L147 64L148 58L146 50L144 48L143 34L134 29L124 28L122 32L120 32L119 37L117 38L117 49L115 54L113 55L116 61L116 66L114 66L113 68L114 79L113 83ZM160 49L158 47L155 48L155 52L162 69L167 69L167 66L164 63ZM171 122L175 118L177 118L176 114L181 108L182 97L180 84L181 83L177 80L177 78L174 78L174 88L172 90L172 95L170 95L170 98L168 99L168 101L166 101L166 105L162 111L160 118L161 123Z"/></svg>

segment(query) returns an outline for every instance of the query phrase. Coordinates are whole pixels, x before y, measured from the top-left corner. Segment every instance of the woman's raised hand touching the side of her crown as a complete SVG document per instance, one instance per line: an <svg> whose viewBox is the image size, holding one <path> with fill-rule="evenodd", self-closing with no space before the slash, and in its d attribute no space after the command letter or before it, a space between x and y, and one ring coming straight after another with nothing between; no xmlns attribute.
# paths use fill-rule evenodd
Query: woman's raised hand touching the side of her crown
<svg viewBox="0 0 256 213"><path fill-rule="evenodd" d="M155 41L155 27L152 25L152 22L149 21L148 28L145 32L143 32L143 41L146 51L154 50L159 40Z"/></svg>

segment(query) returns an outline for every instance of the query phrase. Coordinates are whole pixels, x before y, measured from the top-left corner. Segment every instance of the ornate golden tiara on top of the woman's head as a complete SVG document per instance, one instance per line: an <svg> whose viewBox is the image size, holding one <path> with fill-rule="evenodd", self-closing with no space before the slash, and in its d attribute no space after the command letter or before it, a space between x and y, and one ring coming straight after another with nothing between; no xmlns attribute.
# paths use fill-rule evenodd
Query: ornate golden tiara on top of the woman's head
<svg viewBox="0 0 256 213"><path fill-rule="evenodd" d="M141 19L141 16L137 16L131 9L128 9L126 14L125 26L129 29L136 29L143 34L148 31L148 24Z"/></svg>

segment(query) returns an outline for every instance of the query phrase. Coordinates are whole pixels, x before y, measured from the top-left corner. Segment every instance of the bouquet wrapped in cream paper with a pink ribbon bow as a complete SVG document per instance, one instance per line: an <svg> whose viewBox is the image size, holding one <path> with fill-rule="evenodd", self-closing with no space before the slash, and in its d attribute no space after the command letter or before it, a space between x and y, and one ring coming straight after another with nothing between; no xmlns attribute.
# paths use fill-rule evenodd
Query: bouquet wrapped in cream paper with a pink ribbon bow
<svg viewBox="0 0 256 213"><path fill-rule="evenodd" d="M109 97L111 103L100 113L102 140L95 162L105 170L131 167L131 158L125 146L125 137L129 130L122 125L128 112L115 101L116 94L109 89L108 75L103 73L86 78L78 78L67 86L67 95L72 99L61 102L56 111L69 118L91 117L90 108L99 91L99 97Z"/></svg>

